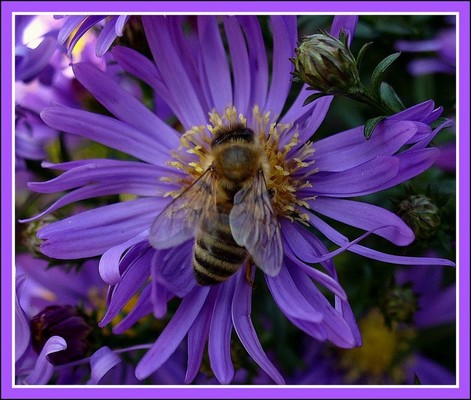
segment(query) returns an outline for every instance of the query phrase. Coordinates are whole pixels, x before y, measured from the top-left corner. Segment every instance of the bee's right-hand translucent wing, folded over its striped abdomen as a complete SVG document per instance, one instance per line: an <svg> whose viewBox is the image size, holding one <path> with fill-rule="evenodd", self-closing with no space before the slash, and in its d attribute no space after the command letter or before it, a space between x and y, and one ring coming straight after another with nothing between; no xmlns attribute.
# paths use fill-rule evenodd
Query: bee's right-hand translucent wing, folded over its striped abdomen
<svg viewBox="0 0 471 400"><path fill-rule="evenodd" d="M283 245L263 171L255 176L253 185L237 192L229 221L235 242L247 249L267 275L276 276L283 261Z"/></svg>

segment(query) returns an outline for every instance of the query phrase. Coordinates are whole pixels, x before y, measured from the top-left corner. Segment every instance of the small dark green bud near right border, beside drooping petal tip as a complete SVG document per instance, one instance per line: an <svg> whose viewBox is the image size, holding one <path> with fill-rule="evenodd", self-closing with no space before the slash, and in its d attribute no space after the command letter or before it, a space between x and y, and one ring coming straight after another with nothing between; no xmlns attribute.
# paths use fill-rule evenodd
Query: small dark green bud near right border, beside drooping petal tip
<svg viewBox="0 0 471 400"><path fill-rule="evenodd" d="M440 225L438 207L424 195L413 195L401 201L398 215L414 231L417 238L428 238Z"/></svg>

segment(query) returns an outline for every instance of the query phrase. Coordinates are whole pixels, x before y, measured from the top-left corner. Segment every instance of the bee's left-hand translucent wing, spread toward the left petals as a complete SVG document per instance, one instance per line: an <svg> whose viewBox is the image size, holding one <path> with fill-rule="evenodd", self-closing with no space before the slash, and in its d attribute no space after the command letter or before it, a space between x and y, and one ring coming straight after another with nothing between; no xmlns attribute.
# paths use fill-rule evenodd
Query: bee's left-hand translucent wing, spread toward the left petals
<svg viewBox="0 0 471 400"><path fill-rule="evenodd" d="M168 249L191 239L200 221L215 209L215 178L208 168L157 216L150 228L150 244L156 249Z"/></svg>

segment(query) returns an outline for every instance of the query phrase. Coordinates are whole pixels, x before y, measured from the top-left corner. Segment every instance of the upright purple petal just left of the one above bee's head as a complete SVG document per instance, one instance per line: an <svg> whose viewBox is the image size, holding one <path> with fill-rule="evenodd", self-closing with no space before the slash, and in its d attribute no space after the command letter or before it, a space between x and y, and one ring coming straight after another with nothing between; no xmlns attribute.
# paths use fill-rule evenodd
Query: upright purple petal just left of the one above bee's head
<svg viewBox="0 0 471 400"><path fill-rule="evenodd" d="M217 17L199 15L198 36L212 104L218 111L232 104L232 87L227 56L222 44Z"/></svg>

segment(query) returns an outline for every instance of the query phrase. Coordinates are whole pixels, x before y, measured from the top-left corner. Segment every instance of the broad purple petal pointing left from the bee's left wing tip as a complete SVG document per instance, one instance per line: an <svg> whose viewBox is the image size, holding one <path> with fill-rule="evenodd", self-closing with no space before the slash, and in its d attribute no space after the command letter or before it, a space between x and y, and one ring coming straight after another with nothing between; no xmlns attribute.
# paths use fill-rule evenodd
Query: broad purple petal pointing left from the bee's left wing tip
<svg viewBox="0 0 471 400"><path fill-rule="evenodd" d="M145 198L73 215L38 231L41 251L59 259L101 255L148 229L162 208L160 199Z"/></svg>

